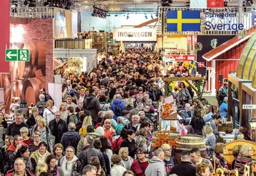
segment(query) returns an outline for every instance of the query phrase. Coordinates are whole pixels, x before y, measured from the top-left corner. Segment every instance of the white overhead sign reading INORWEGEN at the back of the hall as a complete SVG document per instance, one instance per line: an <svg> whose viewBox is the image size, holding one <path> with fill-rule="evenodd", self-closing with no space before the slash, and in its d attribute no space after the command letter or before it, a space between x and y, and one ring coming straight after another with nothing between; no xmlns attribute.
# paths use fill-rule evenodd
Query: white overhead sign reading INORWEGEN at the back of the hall
<svg viewBox="0 0 256 176"><path fill-rule="evenodd" d="M157 41L157 29L118 28L114 29L116 41Z"/></svg>

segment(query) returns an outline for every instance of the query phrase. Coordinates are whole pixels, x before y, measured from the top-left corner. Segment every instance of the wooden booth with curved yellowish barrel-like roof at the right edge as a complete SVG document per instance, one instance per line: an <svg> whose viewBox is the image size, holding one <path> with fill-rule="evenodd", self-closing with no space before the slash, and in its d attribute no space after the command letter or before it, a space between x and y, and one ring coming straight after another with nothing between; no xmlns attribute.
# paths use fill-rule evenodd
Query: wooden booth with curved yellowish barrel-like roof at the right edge
<svg viewBox="0 0 256 176"><path fill-rule="evenodd" d="M248 34L250 35L250 34ZM252 116L256 115L256 110L252 110L250 117L248 116L248 110L243 110L243 104L256 103L255 100L255 88L256 88L256 33L254 33L250 40L247 42L242 54L240 56L240 61L237 66L237 76L228 75L228 118L232 114L232 90L231 88L235 86L237 99L239 100L239 110L240 118L239 122L241 126L248 126L248 120Z"/></svg>

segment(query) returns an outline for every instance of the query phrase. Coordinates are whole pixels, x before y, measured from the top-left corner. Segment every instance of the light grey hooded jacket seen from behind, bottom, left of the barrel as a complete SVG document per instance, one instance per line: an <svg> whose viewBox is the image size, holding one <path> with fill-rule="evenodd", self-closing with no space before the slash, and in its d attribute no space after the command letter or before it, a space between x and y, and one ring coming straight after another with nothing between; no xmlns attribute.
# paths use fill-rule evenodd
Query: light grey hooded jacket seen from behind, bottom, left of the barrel
<svg viewBox="0 0 256 176"><path fill-rule="evenodd" d="M159 157L153 156L149 160L149 165L145 171L146 176L167 176L164 161L160 160Z"/></svg>

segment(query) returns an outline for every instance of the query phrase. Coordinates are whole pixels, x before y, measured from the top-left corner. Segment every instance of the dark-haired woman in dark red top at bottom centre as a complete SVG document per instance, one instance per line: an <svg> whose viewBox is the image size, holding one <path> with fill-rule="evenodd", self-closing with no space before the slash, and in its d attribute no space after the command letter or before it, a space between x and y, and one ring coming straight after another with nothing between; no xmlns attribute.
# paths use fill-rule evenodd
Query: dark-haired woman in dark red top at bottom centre
<svg viewBox="0 0 256 176"><path fill-rule="evenodd" d="M144 147L139 147L137 150L138 159L132 162L131 170L137 176L145 176L145 170L149 165L149 161L146 158L146 153L147 151Z"/></svg>

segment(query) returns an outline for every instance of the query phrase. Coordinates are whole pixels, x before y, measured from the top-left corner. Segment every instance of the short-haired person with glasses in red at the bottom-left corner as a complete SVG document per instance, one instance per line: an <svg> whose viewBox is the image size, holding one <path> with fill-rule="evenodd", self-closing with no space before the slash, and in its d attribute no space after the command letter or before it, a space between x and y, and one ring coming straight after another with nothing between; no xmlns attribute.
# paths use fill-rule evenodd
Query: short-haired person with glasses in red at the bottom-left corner
<svg viewBox="0 0 256 176"><path fill-rule="evenodd" d="M6 176L14 176L14 175L19 175L19 176L35 176L30 172L30 170L26 169L26 165L24 160L19 157L15 160L14 162L14 169L9 170L6 173Z"/></svg>

